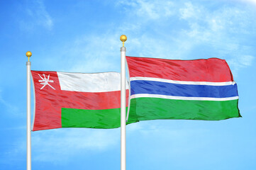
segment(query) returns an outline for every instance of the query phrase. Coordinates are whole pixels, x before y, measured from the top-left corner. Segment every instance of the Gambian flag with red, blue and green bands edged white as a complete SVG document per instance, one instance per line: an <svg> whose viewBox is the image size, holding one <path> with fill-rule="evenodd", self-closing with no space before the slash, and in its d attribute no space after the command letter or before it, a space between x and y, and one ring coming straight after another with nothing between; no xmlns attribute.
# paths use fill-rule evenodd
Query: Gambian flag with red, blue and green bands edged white
<svg viewBox="0 0 256 170"><path fill-rule="evenodd" d="M126 57L135 120L238 118L238 87L225 60Z"/></svg>

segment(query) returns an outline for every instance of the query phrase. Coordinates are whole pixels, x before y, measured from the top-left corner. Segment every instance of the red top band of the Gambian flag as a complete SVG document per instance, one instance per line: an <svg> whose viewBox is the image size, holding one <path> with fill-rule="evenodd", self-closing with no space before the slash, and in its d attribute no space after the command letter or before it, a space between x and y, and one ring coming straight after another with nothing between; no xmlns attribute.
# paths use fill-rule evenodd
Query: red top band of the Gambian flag
<svg viewBox="0 0 256 170"><path fill-rule="evenodd" d="M154 77L177 81L233 81L226 60L166 60L126 57L130 77Z"/></svg>

